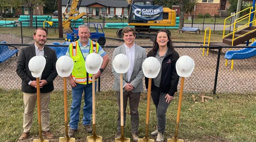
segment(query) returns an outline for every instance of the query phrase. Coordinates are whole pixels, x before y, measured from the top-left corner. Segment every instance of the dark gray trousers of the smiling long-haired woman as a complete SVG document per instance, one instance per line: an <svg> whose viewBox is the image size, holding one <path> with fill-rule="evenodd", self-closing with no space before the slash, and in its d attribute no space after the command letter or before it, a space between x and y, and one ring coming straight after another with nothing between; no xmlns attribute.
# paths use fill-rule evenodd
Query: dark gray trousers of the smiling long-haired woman
<svg viewBox="0 0 256 142"><path fill-rule="evenodd" d="M151 89L151 96L152 100L156 106L156 115L157 115L157 130L161 132L165 132L165 123L166 123L166 111L170 104L166 103L166 96L167 93L161 93L159 91L159 87L152 86Z"/></svg>

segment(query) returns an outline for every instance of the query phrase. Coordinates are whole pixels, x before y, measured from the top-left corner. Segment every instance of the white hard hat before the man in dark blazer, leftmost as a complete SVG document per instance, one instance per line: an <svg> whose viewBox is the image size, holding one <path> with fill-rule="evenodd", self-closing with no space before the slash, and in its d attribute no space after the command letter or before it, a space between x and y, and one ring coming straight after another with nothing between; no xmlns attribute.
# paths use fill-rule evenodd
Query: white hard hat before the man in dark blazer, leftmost
<svg viewBox="0 0 256 142"><path fill-rule="evenodd" d="M42 74L46 64L44 56L34 56L28 62L28 68L33 77L38 78Z"/></svg>

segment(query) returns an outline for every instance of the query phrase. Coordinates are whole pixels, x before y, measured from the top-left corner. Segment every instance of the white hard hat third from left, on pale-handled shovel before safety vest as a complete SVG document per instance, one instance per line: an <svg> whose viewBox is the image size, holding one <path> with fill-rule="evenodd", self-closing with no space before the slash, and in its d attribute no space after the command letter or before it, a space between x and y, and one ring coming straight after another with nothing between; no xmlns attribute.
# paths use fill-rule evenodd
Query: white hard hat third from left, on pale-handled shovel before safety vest
<svg viewBox="0 0 256 142"><path fill-rule="evenodd" d="M85 68L89 74L98 73L101 65L103 63L103 58L97 53L90 53L85 60Z"/></svg>

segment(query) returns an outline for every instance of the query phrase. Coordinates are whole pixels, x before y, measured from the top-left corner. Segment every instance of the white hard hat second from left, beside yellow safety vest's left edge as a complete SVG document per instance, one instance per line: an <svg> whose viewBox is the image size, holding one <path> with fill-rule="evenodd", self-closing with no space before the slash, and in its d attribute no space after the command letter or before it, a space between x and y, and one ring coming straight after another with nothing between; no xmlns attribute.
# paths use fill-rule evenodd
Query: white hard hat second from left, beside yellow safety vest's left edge
<svg viewBox="0 0 256 142"><path fill-rule="evenodd" d="M60 77L68 77L73 70L74 62L69 56L60 56L56 62L56 70Z"/></svg>

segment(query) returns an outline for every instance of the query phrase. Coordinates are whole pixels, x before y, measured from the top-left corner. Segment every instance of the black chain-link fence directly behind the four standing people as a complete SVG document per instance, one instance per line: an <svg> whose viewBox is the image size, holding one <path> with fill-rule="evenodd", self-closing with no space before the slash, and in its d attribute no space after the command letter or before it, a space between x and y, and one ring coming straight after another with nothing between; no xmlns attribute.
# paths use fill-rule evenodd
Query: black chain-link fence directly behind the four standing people
<svg viewBox="0 0 256 142"><path fill-rule="evenodd" d="M10 51L15 48L20 51L21 48L29 44L0 44L0 52L3 47L7 47ZM59 46L59 45L48 45ZM111 90L113 87L114 77L111 70L111 58L116 46L105 46L103 50L110 58L110 62L100 78L100 86L98 90L106 91ZM244 46L232 47L232 50L240 50ZM145 46L146 52L151 50L150 46ZM243 60L234 60L233 70L231 70L231 60L228 60L225 66L225 53L230 47L215 47L216 49L209 50L206 55L207 48L205 49L205 56L202 56L202 46L175 46L175 50L180 56L188 55L195 61L195 69L190 77L185 79L185 92L191 93L223 93L223 92L242 92L250 93L256 90L256 56L255 49L248 49L248 54L241 54L240 57L246 58ZM66 52L66 48L59 47L59 49ZM222 52L221 52L222 51ZM11 53L11 52L10 52ZM5 52L8 54L8 51ZM18 52L19 54L19 52ZM59 52L57 52L59 54ZM0 54L0 59L3 56ZM21 79L16 74L17 56L13 54L12 57L0 64L0 88L2 89L20 89ZM144 82L144 81L143 81ZM59 76L54 80L56 90L63 89L63 79ZM179 87L179 85L178 85ZM68 85L68 89L71 89Z"/></svg>

